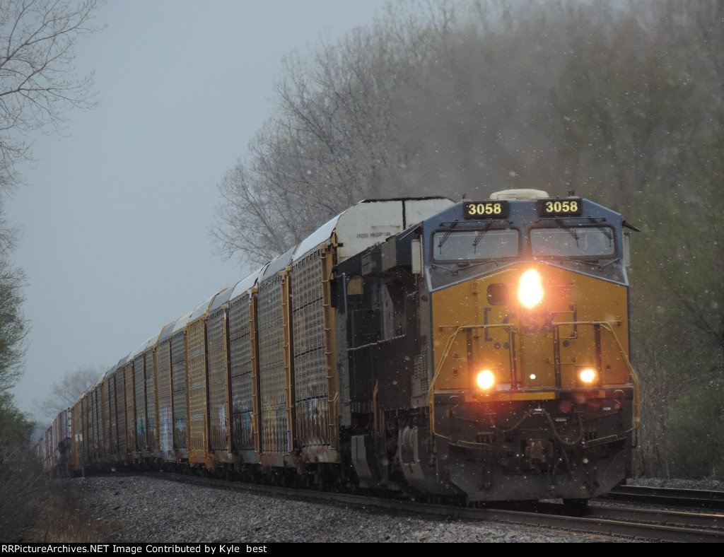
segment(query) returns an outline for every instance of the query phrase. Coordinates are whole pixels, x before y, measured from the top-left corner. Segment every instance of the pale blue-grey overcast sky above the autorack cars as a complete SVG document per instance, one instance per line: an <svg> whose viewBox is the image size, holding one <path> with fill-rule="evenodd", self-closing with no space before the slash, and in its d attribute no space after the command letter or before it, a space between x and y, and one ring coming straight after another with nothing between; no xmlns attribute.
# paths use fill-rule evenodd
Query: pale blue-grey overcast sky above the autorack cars
<svg viewBox="0 0 724 557"><path fill-rule="evenodd" d="M8 204L32 323L17 405L104 370L248 272L214 255L216 184L271 116L281 59L368 25L384 0L111 0L77 44L101 106L35 139Z"/></svg>

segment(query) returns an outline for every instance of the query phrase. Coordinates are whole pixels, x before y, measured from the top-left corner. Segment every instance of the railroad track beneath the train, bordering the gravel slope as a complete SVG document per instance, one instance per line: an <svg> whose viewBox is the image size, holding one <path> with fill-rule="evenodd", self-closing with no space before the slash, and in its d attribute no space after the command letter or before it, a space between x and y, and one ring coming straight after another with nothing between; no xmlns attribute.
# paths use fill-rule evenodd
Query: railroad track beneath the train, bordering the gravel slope
<svg viewBox="0 0 724 557"><path fill-rule="evenodd" d="M416 501L371 498L347 493L328 493L230 482L207 477L158 473L149 473L149 475L165 480L190 482L216 488L265 493L269 496L315 499L366 508L407 511L418 515L526 524L534 527L611 535L636 540L683 543L724 542L724 514L613 508L605 506L605 503L594 502L586 516L570 516L564 514L563 505L560 503L536 503L534 511L502 509L492 506L471 509L447 504L418 503Z"/></svg>

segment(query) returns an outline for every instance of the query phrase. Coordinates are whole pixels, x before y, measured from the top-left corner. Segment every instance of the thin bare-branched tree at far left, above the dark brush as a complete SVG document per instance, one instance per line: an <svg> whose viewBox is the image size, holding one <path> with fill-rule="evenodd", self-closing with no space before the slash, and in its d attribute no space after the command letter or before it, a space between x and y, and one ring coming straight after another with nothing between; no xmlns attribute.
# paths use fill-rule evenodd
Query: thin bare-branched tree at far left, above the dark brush
<svg viewBox="0 0 724 557"><path fill-rule="evenodd" d="M102 1L0 1L0 392L20 375L28 332L25 276L9 261L18 232L4 198L22 182L16 164L30 157L28 136L58 129L65 109L95 103L90 76L76 77L72 61L77 38L97 29L91 20Z"/></svg>

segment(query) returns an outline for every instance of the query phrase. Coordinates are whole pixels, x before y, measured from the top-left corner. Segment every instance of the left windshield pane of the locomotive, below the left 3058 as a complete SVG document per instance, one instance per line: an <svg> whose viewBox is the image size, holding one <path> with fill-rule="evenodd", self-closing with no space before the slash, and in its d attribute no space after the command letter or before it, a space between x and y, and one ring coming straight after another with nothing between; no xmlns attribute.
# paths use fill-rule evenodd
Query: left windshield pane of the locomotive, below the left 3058
<svg viewBox="0 0 724 557"><path fill-rule="evenodd" d="M517 230L447 230L432 235L436 260L512 258L518 255Z"/></svg>

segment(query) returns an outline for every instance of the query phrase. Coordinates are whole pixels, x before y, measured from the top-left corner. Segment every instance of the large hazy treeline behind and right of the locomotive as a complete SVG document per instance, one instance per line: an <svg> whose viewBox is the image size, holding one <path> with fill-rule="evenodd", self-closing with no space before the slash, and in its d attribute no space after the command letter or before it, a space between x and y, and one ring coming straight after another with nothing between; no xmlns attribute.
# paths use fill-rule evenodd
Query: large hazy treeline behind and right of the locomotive
<svg viewBox="0 0 724 557"><path fill-rule="evenodd" d="M589 197L642 229L630 271L642 475L724 477L724 4L422 1L286 60L219 186L260 263L364 197Z"/></svg>

